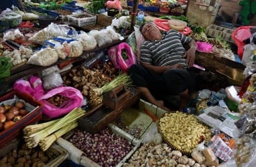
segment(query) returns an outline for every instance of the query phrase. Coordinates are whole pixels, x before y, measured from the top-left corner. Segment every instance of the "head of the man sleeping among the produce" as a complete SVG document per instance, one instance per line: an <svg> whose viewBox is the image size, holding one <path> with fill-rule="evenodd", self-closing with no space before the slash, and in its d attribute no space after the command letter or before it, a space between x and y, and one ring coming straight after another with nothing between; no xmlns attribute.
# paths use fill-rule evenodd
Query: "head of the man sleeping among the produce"
<svg viewBox="0 0 256 167"><path fill-rule="evenodd" d="M147 41L160 40L162 39L162 34L156 25L152 22L145 22L139 27L139 31L145 37Z"/></svg>

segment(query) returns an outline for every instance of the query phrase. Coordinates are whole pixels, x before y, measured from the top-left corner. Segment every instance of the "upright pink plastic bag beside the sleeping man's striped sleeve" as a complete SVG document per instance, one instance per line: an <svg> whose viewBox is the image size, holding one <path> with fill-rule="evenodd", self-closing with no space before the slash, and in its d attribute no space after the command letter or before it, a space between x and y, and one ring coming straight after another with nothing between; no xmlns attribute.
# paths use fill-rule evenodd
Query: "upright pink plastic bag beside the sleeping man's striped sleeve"
<svg viewBox="0 0 256 167"><path fill-rule="evenodd" d="M123 59L122 57L122 50L125 49L125 52L127 53L128 59ZM111 59L111 62L113 63L115 69L121 69L124 72L127 71L127 69L136 63L136 58L133 53L133 49L131 49L130 45L128 43L119 43L119 45L115 45L107 51L109 55L109 59Z"/></svg>

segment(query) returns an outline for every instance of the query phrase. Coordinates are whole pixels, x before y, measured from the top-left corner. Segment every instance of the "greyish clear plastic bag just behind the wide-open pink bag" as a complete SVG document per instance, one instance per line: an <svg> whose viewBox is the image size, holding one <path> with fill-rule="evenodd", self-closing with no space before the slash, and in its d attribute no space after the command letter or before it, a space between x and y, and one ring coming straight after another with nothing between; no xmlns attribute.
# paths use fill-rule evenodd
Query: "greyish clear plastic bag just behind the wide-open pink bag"
<svg viewBox="0 0 256 167"><path fill-rule="evenodd" d="M52 90L53 88L61 86L62 83L62 77L58 72L49 73L43 78L43 86L45 90Z"/></svg>

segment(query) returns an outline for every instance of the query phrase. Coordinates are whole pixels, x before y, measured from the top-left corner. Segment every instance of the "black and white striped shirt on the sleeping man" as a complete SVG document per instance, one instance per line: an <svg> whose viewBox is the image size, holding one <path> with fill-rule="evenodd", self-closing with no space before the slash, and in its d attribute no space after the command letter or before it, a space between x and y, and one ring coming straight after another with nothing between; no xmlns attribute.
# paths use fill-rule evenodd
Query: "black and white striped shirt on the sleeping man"
<svg viewBox="0 0 256 167"><path fill-rule="evenodd" d="M192 39L182 33L170 30L163 35L161 41L144 41L141 45L140 61L151 65L164 66L177 63L188 67L184 54L186 52L182 44L190 43Z"/></svg>

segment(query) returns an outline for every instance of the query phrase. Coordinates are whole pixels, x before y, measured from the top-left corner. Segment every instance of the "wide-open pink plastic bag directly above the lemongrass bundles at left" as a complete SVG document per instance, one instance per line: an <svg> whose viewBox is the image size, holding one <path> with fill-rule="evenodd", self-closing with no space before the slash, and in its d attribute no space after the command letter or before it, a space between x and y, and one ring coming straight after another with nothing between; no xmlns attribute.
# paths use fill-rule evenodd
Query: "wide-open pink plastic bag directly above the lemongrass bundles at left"
<svg viewBox="0 0 256 167"><path fill-rule="evenodd" d="M57 107L47 101L48 98L51 98L52 96L55 96L57 94L68 98L68 100L64 101L60 107ZM41 96L38 100L40 100L44 104L43 114L48 116L48 118L56 118L64 114L68 114L68 112L71 112L72 110L74 110L74 108L79 108L80 106L82 106L84 98L81 92L76 88L64 86L50 90L49 92Z"/></svg>

